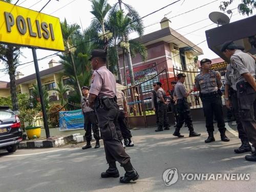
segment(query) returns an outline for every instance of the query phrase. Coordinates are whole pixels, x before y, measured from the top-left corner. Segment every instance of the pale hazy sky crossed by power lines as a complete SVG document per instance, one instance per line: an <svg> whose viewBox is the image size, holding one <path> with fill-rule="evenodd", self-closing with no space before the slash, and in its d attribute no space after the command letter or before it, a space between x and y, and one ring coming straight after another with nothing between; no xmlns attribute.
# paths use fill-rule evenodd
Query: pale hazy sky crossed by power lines
<svg viewBox="0 0 256 192"><path fill-rule="evenodd" d="M35 11L39 11L49 0L20 0L17 5L25 8L30 8ZM15 3L16 0L13 0ZM114 5L117 0L109 0L110 5ZM147 15L148 13L154 12L170 3L175 2L175 0L123 0L125 4L129 4L133 6L140 14L140 16ZM213 2L213 3L211 3ZM247 16L243 16L238 13L238 4L241 0L234 0L234 3L231 4L228 9L232 9L232 17L230 22L235 22L237 20L246 18ZM207 3L209 5L203 6ZM144 34L148 34L157 30L160 30L160 20L166 16L170 18L171 28L174 30L177 29L177 32L184 35L187 39L194 42L194 44L199 44L203 40L206 39L205 31L217 27L217 24L211 22L208 18L209 13L213 11L220 11L219 5L221 0L181 0L180 2L164 8L150 16L147 16L143 19L144 26L149 26L151 24L157 23L150 27L146 27L144 29ZM203 6L203 7L201 7ZM201 8L199 8L201 7ZM189 10L195 9L194 11ZM86 29L90 23L92 18L94 17L91 13L91 2L89 0L52 0L45 8L42 10L42 13L46 13L52 16L56 16L60 19L60 21L67 19L69 24L77 23L83 29ZM182 14L185 13L185 14ZM182 15L179 15L182 14ZM255 11L253 12L255 14ZM230 16L230 15L228 15ZM173 18L171 18L173 17ZM203 20L206 19L206 20ZM199 22L194 25L190 25L188 27L179 29L181 27L187 26L189 24L193 24L195 22ZM212 25L211 25L212 24ZM199 29L199 30L198 30ZM195 31L197 30L197 31ZM193 33L190 33L195 31ZM190 34L187 34L190 33ZM136 38L137 34L130 34L130 39ZM214 52L212 52L208 46L207 42L203 42L198 45L202 48L204 54L199 56L199 59L202 58L217 58L219 57ZM51 54L54 54L54 51L46 51L37 49L37 58L42 58ZM22 56L19 57L20 63L25 63L33 60L31 49L25 48L22 50ZM44 60L38 61L39 70L45 70L49 68L48 62L51 60L59 60L59 57L54 56L51 58L47 58ZM4 65L0 61L0 69L3 69ZM19 66L16 71L22 72L25 76L35 73L34 63L28 63L26 65ZM0 80L1 81L9 81L9 75L3 72L0 72Z"/></svg>

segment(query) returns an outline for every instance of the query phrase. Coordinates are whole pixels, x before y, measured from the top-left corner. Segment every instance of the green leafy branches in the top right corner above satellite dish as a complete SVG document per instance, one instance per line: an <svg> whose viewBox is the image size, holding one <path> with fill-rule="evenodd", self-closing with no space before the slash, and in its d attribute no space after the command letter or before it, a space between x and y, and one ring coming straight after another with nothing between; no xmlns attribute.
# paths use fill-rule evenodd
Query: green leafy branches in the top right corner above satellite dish
<svg viewBox="0 0 256 192"><path fill-rule="evenodd" d="M226 11L227 7L233 3L233 0L223 1L219 6L220 10ZM256 1L255 0L241 0L241 3L238 5L239 13L242 15L249 16L252 14L252 10L256 8Z"/></svg>

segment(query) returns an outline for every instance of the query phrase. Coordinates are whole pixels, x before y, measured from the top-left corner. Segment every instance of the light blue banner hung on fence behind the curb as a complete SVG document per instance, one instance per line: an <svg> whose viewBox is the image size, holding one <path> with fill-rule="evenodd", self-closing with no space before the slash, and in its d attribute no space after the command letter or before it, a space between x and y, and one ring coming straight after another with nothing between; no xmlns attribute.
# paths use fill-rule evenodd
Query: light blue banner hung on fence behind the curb
<svg viewBox="0 0 256 192"><path fill-rule="evenodd" d="M59 131L80 129L83 129L82 110L59 112Z"/></svg>

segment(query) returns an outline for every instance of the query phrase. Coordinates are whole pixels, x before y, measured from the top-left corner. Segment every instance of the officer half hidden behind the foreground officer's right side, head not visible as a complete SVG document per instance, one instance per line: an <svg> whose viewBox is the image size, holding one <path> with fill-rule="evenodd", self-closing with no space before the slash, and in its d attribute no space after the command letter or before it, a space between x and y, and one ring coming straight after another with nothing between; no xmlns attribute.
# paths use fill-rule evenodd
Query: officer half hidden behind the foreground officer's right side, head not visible
<svg viewBox="0 0 256 192"><path fill-rule="evenodd" d="M133 147L132 133L127 126L128 109L125 95L122 91L116 90L117 105L119 106L118 125L126 147Z"/></svg>

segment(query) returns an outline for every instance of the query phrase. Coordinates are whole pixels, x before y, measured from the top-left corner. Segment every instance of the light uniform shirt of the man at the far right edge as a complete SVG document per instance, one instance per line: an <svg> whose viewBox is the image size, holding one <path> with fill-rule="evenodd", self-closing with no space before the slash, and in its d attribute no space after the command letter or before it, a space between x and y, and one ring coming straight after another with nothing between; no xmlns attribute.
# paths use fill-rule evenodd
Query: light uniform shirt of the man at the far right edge
<svg viewBox="0 0 256 192"><path fill-rule="evenodd" d="M242 76L244 73L250 73L255 76L255 60L247 53L236 50L230 58L231 68L234 70L234 79L236 82L245 81Z"/></svg>

